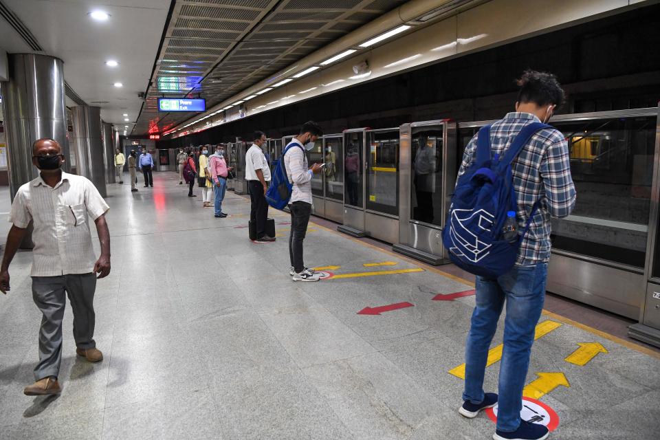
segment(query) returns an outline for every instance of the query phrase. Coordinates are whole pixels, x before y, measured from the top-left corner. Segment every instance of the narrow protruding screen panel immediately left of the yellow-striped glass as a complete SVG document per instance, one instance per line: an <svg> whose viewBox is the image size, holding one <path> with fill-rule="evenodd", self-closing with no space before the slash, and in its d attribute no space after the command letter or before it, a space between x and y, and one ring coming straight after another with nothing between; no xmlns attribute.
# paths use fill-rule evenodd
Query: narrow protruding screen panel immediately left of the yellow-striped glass
<svg viewBox="0 0 660 440"><path fill-rule="evenodd" d="M364 223L364 168L366 129L344 130L344 219L337 230L351 236L366 235Z"/></svg>

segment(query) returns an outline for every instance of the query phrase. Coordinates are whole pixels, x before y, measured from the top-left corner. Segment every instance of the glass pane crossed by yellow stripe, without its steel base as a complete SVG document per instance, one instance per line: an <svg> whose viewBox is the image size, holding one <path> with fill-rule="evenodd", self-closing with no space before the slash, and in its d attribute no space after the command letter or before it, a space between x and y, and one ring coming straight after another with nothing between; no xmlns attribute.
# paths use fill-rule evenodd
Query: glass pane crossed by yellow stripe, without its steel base
<svg viewBox="0 0 660 440"><path fill-rule="evenodd" d="M366 208L399 214L399 130L367 133Z"/></svg>

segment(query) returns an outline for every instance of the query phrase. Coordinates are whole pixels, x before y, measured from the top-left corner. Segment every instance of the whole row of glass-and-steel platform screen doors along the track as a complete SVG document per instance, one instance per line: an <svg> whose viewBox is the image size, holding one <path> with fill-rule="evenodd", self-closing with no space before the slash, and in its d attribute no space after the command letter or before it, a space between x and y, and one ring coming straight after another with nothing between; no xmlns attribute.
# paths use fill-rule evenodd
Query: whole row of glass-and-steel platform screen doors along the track
<svg viewBox="0 0 660 440"><path fill-rule="evenodd" d="M307 153L310 164L327 164L312 180L314 214L351 236L448 263L441 230L456 173L467 142L490 122L443 119L324 135ZM556 115L551 124L569 144L577 204L571 216L552 220L547 289L637 319L647 281L660 280L658 108ZM270 159L291 139L268 140ZM228 144L239 194L247 191L247 148L240 139Z"/></svg>

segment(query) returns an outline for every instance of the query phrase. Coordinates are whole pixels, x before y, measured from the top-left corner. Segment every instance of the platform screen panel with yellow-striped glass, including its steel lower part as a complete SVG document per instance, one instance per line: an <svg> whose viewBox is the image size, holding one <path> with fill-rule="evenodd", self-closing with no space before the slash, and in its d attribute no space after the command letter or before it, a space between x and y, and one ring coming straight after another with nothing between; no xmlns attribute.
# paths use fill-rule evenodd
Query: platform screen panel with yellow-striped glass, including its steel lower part
<svg viewBox="0 0 660 440"><path fill-rule="evenodd" d="M366 131L364 227L375 239L399 241L399 127Z"/></svg>

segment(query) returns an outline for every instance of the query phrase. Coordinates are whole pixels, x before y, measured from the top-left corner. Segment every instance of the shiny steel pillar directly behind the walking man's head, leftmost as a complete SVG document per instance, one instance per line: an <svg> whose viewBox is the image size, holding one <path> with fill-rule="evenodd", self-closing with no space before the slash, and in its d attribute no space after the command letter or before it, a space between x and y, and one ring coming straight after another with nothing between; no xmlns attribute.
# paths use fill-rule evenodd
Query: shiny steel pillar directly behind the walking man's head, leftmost
<svg viewBox="0 0 660 440"><path fill-rule="evenodd" d="M69 157L64 63L53 56L10 54L9 80L0 87L13 201L21 185L39 175L32 165L34 141L50 137ZM70 171L69 162L63 169Z"/></svg>

